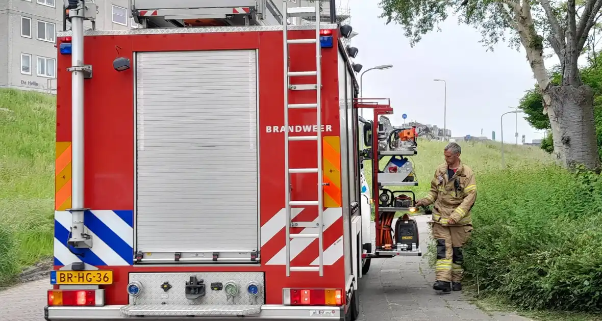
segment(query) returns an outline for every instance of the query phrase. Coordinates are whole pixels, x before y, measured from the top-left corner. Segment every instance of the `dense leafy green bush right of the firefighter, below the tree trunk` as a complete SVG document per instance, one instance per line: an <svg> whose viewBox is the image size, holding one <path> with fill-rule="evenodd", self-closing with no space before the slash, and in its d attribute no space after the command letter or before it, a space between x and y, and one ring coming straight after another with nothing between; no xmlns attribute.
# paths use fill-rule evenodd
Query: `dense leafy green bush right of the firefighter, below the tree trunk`
<svg viewBox="0 0 602 321"><path fill-rule="evenodd" d="M477 183L467 280L523 308L602 311L602 177L539 165Z"/></svg>

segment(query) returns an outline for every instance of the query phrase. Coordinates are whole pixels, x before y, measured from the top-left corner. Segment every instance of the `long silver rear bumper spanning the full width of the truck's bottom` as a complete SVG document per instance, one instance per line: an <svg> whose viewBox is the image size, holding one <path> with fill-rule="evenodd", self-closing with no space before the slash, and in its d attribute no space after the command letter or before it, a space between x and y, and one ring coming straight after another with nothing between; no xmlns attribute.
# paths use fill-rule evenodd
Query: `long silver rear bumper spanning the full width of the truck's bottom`
<svg viewBox="0 0 602 321"><path fill-rule="evenodd" d="M73 320L95 320L95 321L110 321L110 320L287 320L287 321L303 321L303 320L330 320L344 321L344 307L290 307L287 305L261 305L252 310L251 306L239 306L239 310L213 310L210 307L200 309L199 307L188 306L173 306L166 308L163 305L161 310L169 314L160 314L155 305L140 305L135 308L128 305L105 305L104 307L45 307L45 319L48 321L73 321ZM255 314L247 314L256 312ZM128 314L140 313L138 316L128 316ZM190 313L190 314L188 314ZM240 313L238 316L228 315L229 313ZM143 314L143 317L140 315Z"/></svg>

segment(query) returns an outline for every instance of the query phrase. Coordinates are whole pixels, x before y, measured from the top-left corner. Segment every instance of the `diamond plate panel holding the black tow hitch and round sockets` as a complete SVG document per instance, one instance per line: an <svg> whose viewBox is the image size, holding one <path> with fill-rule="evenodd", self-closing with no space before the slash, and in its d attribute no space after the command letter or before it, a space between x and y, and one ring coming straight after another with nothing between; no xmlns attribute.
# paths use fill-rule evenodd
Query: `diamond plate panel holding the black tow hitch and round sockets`
<svg viewBox="0 0 602 321"><path fill-rule="evenodd" d="M197 280L203 280L205 295L198 299L187 299L185 295L186 282L196 275ZM261 305L264 303L264 274L262 272L229 272L229 273L130 273L129 281L138 281L142 285L138 296L130 296L130 305ZM165 292L161 285L169 282L171 289ZM226 298L223 289L226 283L234 281L238 293L232 298ZM255 281L259 292L252 296L247 292L247 285ZM222 283L222 290L211 290L211 283ZM191 307L192 308L192 307ZM205 307L197 307L200 310Z"/></svg>

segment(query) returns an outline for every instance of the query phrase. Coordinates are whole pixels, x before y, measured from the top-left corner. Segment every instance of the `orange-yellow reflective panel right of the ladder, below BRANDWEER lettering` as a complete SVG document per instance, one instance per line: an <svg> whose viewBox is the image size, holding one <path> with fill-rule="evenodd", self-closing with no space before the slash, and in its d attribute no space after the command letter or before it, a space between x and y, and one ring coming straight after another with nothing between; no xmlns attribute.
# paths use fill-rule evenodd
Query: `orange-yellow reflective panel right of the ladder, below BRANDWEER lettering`
<svg viewBox="0 0 602 321"><path fill-rule="evenodd" d="M323 150L323 182L324 207L341 207L341 144L339 136L324 136Z"/></svg>

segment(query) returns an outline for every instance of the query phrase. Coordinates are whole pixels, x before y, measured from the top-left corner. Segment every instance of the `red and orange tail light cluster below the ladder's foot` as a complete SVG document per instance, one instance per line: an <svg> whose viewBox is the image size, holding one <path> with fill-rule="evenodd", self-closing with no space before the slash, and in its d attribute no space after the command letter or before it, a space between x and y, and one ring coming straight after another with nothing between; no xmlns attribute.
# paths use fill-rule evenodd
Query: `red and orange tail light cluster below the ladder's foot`
<svg viewBox="0 0 602 321"><path fill-rule="evenodd" d="M343 305L340 289L284 289L285 305Z"/></svg>

